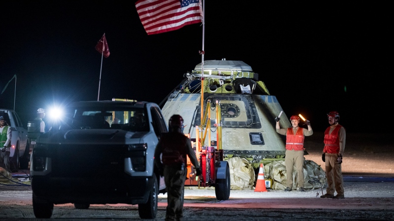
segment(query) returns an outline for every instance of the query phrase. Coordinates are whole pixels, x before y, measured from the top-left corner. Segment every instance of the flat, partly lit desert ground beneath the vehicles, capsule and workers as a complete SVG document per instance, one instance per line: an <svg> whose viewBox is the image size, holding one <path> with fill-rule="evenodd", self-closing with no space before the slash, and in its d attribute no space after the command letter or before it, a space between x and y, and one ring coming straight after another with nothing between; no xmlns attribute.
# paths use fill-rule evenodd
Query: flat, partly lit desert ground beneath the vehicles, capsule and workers
<svg viewBox="0 0 394 221"><path fill-rule="evenodd" d="M388 134L347 134L343 156L345 199L321 199L322 190L284 192L231 190L229 200L217 200L211 188L185 188L185 220L394 220L394 147ZM305 138L306 160L321 160L323 133ZM28 171L25 171L28 173ZM325 190L323 190L325 193ZM0 185L1 220L34 218L32 191L28 185ZM159 195L154 220L164 220L166 194ZM55 205L49 220L141 220L136 205Z"/></svg>

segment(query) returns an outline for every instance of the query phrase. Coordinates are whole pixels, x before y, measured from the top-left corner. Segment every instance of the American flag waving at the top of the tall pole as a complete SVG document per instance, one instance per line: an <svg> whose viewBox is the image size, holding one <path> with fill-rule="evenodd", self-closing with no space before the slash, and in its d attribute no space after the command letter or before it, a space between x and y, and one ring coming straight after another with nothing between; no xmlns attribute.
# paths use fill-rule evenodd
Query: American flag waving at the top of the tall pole
<svg viewBox="0 0 394 221"><path fill-rule="evenodd" d="M138 0L135 8L148 35L202 22L199 0Z"/></svg>

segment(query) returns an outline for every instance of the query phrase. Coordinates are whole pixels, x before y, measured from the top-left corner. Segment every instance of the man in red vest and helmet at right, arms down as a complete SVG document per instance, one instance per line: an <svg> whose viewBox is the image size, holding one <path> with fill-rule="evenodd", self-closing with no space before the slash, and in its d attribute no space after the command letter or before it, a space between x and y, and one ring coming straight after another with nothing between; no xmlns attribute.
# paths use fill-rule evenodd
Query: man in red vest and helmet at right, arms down
<svg viewBox="0 0 394 221"><path fill-rule="evenodd" d="M345 150L346 130L338 124L339 113L331 111L327 114L330 126L324 132L324 149L322 160L326 163L328 187L327 193L320 198L345 198L342 176L342 155ZM334 196L334 193L337 195Z"/></svg>

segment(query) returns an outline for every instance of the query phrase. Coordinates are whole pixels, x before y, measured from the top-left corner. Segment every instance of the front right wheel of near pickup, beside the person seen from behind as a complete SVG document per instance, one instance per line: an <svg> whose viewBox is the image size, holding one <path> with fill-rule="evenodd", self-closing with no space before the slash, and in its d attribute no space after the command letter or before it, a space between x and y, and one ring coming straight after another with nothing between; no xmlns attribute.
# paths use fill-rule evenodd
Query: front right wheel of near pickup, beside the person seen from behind
<svg viewBox="0 0 394 221"><path fill-rule="evenodd" d="M138 204L138 214L141 219L156 218L159 187L157 184L157 179L155 174L153 174L152 179L153 179L153 187L149 193L148 202Z"/></svg>

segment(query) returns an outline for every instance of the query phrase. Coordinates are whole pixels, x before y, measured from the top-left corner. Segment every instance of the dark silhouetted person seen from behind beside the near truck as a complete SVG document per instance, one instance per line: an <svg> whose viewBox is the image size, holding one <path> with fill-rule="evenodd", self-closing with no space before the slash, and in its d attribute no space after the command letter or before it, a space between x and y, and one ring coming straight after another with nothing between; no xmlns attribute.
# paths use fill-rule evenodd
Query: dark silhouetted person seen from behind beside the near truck
<svg viewBox="0 0 394 221"><path fill-rule="evenodd" d="M169 132L161 136L155 150L155 163L164 175L167 191L166 221L183 220L183 193L187 172L186 155L189 156L196 175L201 174L196 153L192 148L191 140L182 131L183 118L172 115L168 122ZM160 160L160 155L162 159Z"/></svg>

